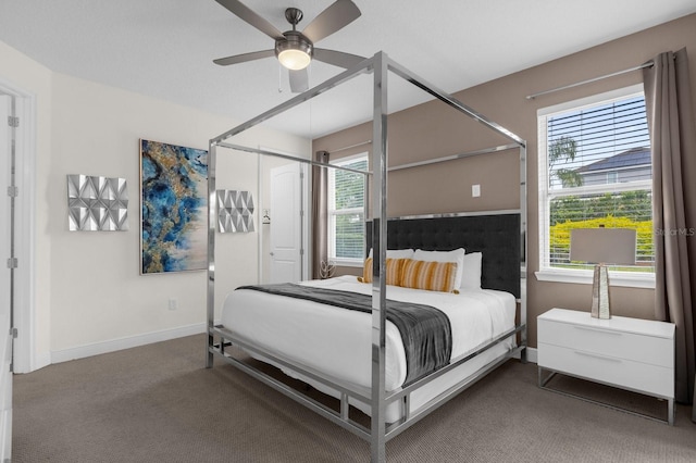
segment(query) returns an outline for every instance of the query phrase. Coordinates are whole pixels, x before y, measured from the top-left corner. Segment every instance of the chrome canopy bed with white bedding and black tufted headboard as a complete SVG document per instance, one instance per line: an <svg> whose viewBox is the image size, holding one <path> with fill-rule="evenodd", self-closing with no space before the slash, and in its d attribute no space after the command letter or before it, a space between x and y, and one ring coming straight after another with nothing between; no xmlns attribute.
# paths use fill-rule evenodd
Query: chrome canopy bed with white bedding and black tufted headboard
<svg viewBox="0 0 696 463"><path fill-rule="evenodd" d="M483 155L502 149L520 150L520 209L446 215L386 217L386 74L402 77L435 96L488 129L507 137L511 145L477 150L458 157L433 160L447 162L464 155ZM359 281L355 276L328 280L304 281L283 288L287 291L315 292L304 300L293 292L274 292L259 286L229 291L225 298L221 321L215 321L215 157L216 148L231 148L260 155L281 153L235 145L228 141L275 114L301 104L340 85L356 75L372 72L375 85L372 161L372 221L366 224L368 251L374 250L372 272ZM455 397L471 384L512 356L525 360L526 300L526 190L525 143L514 134L498 126L377 53L355 68L308 90L286 103L259 115L220 137L212 139L209 150L209 249L208 249L208 346L206 366L219 358L238 367L287 397L304 404L330 421L369 440L371 459L385 461L386 441L420 421L431 411ZM312 161L306 162L326 167ZM382 226L385 224L386 226ZM414 252L451 252L465 250L464 255L478 255L473 287L457 286L457 291L424 291L387 285L388 254L394 250ZM420 254L423 255L423 254ZM423 259L426 260L426 259ZM412 261L419 261L413 259ZM458 265L461 268L461 265ZM456 268L456 267L453 267ZM232 288L231 288L232 289ZM323 291L323 292L322 292ZM326 291L348 291L352 299L365 299L359 310L346 310L322 299ZM451 333L448 355L427 371L414 371L405 340L410 339L400 323L389 318L390 304L406 302L435 308L445 314ZM328 304L327 304L328 303ZM282 306L278 311L277 308ZM391 315L393 316L393 315ZM440 315L437 315L442 317ZM398 327L396 326L398 325ZM415 324L418 327L418 324ZM438 328L439 329L439 328ZM446 343L440 338L434 343ZM409 342L406 342L409 343ZM336 397L332 408L285 381L269 375L253 363L235 354L237 349L278 367L318 390ZM439 355L439 354L438 354ZM436 355L437 356L437 355ZM442 355L440 355L442 356ZM420 367L420 366L419 366ZM423 373L425 372L425 373ZM351 408L370 416L370 424L353 418Z"/></svg>

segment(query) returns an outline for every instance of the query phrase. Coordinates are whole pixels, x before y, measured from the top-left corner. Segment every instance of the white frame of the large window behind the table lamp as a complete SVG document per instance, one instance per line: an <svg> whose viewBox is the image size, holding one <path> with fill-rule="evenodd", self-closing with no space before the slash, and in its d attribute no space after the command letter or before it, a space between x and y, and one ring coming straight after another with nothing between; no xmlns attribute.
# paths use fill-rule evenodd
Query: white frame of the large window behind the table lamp
<svg viewBox="0 0 696 463"><path fill-rule="evenodd" d="M549 192L549 172L548 172L548 145L547 145L547 118L554 114L583 110L585 108L595 107L602 103L610 103L617 100L629 99L635 96L644 96L643 84L633 85L630 87L620 88L612 91L597 93L591 97L582 98L579 100L568 101L564 103L540 108L537 110L537 163L538 163L538 271L535 272L535 276L540 281L556 281L556 283L574 283L574 284L587 284L593 283L593 271L581 268L558 268L550 266L550 251L548 249L550 242L549 236L549 222L550 222L550 196L558 197L558 191L552 195ZM652 190L651 180L643 180L643 188L649 191ZM639 186L639 185L638 185ZM626 190L635 190L636 183L625 186ZM619 184L612 184L613 191L622 189ZM593 193L604 191L607 186L585 186L583 187L583 193ZM563 196L561 193L560 196ZM612 286L624 286L632 288L655 288L655 273L638 273L638 272L619 272L610 271Z"/></svg>

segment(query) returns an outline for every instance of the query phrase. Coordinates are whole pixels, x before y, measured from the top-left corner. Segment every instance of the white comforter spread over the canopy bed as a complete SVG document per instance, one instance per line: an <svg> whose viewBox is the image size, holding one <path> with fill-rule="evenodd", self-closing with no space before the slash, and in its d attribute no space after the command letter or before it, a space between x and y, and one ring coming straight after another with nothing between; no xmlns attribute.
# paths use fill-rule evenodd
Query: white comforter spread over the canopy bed
<svg viewBox="0 0 696 463"><path fill-rule="evenodd" d="M304 281L364 295L372 285L355 276ZM495 290L459 295L387 286L387 299L435 306L447 314L452 328L452 360L514 326L515 300ZM370 314L241 289L224 303L222 324L235 336L353 385L369 388L372 364ZM386 325L386 390L406 379L406 353L399 330ZM293 372L286 372L293 375Z"/></svg>

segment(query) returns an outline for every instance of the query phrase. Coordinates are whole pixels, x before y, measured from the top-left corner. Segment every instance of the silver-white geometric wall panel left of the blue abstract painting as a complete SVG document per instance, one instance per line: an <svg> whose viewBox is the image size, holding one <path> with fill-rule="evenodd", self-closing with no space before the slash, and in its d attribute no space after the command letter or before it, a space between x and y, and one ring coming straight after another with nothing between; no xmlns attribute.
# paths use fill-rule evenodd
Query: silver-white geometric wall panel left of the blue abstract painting
<svg viewBox="0 0 696 463"><path fill-rule="evenodd" d="M70 230L128 229L128 189L125 178L67 176Z"/></svg>

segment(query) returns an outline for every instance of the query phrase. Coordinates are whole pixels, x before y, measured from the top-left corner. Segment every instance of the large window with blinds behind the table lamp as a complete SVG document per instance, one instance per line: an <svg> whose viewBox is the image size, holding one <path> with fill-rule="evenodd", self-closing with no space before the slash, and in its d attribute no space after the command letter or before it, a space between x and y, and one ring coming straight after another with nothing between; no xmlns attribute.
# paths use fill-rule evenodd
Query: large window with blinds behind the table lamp
<svg viewBox="0 0 696 463"><path fill-rule="evenodd" d="M575 280L573 273L592 268L569 260L570 230L606 226L636 229L636 265L610 271L649 286L652 166L643 87L539 110L538 128L540 279Z"/></svg>

